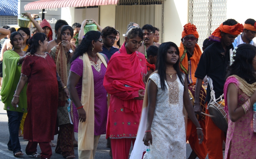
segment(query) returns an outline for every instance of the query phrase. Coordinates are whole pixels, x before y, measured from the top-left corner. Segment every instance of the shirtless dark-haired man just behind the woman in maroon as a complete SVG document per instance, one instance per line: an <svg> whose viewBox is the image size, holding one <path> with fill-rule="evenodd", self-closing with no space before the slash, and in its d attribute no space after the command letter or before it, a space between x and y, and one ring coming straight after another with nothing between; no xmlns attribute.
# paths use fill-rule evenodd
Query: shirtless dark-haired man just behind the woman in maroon
<svg viewBox="0 0 256 159"><path fill-rule="evenodd" d="M45 52L49 53L53 47L58 45L61 42L61 35L60 35L60 30L64 25L68 25L66 20L59 19L56 24L55 24L55 39L49 41L47 50Z"/></svg>

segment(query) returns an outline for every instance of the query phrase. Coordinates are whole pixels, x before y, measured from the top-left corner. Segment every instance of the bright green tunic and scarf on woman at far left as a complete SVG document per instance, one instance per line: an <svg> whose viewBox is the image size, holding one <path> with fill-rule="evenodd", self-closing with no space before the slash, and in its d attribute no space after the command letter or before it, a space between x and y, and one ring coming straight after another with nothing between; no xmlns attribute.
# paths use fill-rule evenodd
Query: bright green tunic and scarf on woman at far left
<svg viewBox="0 0 256 159"><path fill-rule="evenodd" d="M20 80L21 64L19 65L20 55L15 51L4 52L3 57L3 84L1 90L4 109L17 112L27 112L27 84L20 93L19 107L15 110L11 105L14 91Z"/></svg>

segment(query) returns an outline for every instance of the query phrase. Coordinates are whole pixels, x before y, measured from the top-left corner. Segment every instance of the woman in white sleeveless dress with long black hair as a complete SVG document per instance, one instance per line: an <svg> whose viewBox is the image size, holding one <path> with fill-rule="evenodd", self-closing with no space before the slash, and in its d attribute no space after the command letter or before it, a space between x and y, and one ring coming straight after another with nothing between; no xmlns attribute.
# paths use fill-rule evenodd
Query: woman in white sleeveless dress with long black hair
<svg viewBox="0 0 256 159"><path fill-rule="evenodd" d="M141 159L145 150L143 144L146 146L151 144L150 152L154 159L186 158L183 103L197 127L199 143L204 140L188 96L187 79L180 72L179 63L177 45L173 42L161 44L157 55L158 70L149 77L146 86L139 130L131 159Z"/></svg>

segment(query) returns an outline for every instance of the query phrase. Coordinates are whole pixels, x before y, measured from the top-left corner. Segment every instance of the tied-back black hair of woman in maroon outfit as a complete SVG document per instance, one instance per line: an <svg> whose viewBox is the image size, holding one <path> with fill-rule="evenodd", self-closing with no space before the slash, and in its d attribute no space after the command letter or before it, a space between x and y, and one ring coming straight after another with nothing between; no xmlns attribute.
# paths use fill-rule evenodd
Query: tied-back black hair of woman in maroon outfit
<svg viewBox="0 0 256 159"><path fill-rule="evenodd" d="M41 40L42 43L44 43L44 40L46 39L45 33L35 33L31 38L28 39L28 50L27 52L30 52L30 54L35 54L37 51L37 48L39 45L39 40Z"/></svg>

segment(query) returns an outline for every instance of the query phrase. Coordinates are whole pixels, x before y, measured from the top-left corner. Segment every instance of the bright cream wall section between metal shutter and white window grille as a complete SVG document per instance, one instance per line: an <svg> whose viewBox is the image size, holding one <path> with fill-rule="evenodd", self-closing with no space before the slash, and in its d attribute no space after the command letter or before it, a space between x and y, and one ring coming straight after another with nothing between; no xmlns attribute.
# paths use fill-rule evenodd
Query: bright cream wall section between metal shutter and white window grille
<svg viewBox="0 0 256 159"><path fill-rule="evenodd" d="M164 42L180 46L183 26L188 23L188 0L164 1Z"/></svg>

